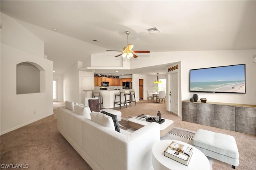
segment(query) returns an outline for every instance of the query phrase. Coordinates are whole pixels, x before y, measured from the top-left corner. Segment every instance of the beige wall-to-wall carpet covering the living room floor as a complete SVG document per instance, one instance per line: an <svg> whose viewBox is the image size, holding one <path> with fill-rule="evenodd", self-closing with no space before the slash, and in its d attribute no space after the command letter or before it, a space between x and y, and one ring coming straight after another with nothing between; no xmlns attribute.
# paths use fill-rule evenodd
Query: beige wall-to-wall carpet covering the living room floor
<svg viewBox="0 0 256 170"><path fill-rule="evenodd" d="M32 170L90 170L91 167L57 130L56 107L64 105L64 102L54 102L54 115L1 135L1 164L28 164L29 169ZM120 110L119 107L115 109ZM175 127L190 131L197 131L200 128L232 135L239 150L239 166L236 170L256 169L256 136L254 135L182 121L174 113L166 111L165 104L140 101L137 102L137 106L133 104L132 107L122 107L120 111L122 117L142 113L155 116L161 111L162 117L173 120ZM214 159L212 170L232 170L232 166Z"/></svg>

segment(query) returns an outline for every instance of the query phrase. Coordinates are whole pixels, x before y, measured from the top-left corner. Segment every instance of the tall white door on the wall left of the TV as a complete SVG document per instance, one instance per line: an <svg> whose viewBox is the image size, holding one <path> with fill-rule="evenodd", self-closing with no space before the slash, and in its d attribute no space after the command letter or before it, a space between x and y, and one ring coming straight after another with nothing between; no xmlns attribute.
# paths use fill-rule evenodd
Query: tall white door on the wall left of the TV
<svg viewBox="0 0 256 170"><path fill-rule="evenodd" d="M178 72L170 74L170 111L178 115Z"/></svg>

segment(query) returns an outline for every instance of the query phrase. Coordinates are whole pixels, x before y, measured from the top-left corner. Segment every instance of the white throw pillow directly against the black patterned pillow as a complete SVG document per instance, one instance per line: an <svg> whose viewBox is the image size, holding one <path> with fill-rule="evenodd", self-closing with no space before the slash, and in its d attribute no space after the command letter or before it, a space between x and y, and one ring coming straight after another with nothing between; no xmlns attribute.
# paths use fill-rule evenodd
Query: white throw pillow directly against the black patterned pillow
<svg viewBox="0 0 256 170"><path fill-rule="evenodd" d="M95 123L98 123L105 127L109 127L110 129L113 129L114 131L116 131L115 125L111 116L105 115L100 112L92 111L91 118L92 118L92 121L94 121Z"/></svg>

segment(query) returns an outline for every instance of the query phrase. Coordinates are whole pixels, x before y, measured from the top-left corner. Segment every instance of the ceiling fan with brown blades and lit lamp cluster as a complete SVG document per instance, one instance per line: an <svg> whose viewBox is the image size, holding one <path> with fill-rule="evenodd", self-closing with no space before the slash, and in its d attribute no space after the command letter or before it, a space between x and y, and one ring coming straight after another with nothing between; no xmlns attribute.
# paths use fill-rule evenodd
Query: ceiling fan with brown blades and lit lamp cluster
<svg viewBox="0 0 256 170"><path fill-rule="evenodd" d="M118 51L118 52L122 52L120 55L122 55L122 57L126 57L128 59L130 59L131 57L137 58L138 56L135 55L134 53L150 53L150 51L132 51L133 45L128 44L128 35L130 34L130 31L126 31L126 35L127 35L127 47L124 47L123 51ZM117 50L107 50L107 51L117 51ZM115 57L119 57L120 55L117 55Z"/></svg>

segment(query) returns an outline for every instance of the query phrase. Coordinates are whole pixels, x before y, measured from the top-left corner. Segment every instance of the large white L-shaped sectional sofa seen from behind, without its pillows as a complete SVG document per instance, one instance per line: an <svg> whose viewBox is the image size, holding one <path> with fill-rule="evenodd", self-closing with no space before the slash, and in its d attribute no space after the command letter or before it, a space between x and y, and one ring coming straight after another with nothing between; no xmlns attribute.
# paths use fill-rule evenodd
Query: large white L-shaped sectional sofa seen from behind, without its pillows
<svg viewBox="0 0 256 170"><path fill-rule="evenodd" d="M152 146L160 141L158 123L119 133L66 107L57 108L57 128L94 170L152 169Z"/></svg>

